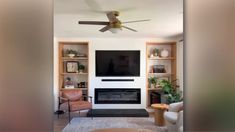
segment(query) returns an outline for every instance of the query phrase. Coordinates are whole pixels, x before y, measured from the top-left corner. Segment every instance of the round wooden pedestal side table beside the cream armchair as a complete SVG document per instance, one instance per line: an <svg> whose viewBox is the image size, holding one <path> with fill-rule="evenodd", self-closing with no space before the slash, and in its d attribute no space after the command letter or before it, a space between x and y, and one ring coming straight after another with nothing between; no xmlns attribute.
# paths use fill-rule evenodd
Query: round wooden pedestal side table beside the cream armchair
<svg viewBox="0 0 235 132"><path fill-rule="evenodd" d="M169 105L167 104L152 104L151 107L154 108L154 121L158 126L165 125L165 120L163 117L164 111L168 109Z"/></svg>

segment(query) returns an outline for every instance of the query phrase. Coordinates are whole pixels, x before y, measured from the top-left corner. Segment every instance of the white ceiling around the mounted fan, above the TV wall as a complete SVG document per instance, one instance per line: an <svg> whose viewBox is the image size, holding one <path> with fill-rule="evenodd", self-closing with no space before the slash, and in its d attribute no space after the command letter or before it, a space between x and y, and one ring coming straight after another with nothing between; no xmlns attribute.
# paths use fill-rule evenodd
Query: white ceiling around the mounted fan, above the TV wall
<svg viewBox="0 0 235 132"><path fill-rule="evenodd" d="M156 37L168 38L183 33L183 0L55 0L55 37ZM105 11L119 11L121 21L136 29L117 34L100 32L102 25L79 25L78 21L108 21Z"/></svg>

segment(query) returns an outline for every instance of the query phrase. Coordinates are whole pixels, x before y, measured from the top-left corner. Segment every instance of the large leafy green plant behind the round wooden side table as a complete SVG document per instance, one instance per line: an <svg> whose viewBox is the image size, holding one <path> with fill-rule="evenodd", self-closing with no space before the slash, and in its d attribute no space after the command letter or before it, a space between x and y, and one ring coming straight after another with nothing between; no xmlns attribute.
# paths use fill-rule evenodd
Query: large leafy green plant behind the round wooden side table
<svg viewBox="0 0 235 132"><path fill-rule="evenodd" d="M181 101L181 94L170 81L160 80L158 84L162 88L163 94L165 94L167 104Z"/></svg>

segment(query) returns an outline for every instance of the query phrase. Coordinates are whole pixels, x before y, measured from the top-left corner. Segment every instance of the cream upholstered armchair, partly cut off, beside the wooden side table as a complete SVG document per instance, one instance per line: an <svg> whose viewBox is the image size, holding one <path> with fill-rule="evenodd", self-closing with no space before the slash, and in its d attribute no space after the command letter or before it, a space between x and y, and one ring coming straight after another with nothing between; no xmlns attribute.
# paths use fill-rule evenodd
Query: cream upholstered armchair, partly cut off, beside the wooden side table
<svg viewBox="0 0 235 132"><path fill-rule="evenodd" d="M168 132L183 132L183 102L170 104L164 119Z"/></svg>

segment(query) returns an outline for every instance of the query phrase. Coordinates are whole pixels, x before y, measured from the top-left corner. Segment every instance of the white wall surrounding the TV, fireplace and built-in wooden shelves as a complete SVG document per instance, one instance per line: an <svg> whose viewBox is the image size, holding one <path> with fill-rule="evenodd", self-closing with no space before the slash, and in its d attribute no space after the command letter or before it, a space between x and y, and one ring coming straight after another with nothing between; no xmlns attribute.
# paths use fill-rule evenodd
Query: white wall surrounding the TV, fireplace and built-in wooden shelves
<svg viewBox="0 0 235 132"><path fill-rule="evenodd" d="M54 42L54 95L55 110L58 97L58 42L87 41L89 42L89 95L94 97L94 88L141 88L141 104L93 104L94 108L146 108L146 42L178 41L156 38L55 38ZM95 50L140 50L140 77L133 78L134 82L102 82L101 77L95 77ZM178 73L177 73L178 74ZM109 78L109 77L105 77ZM114 77L112 77L114 78ZM115 77L120 78L120 77ZM94 101L93 101L94 102Z"/></svg>

